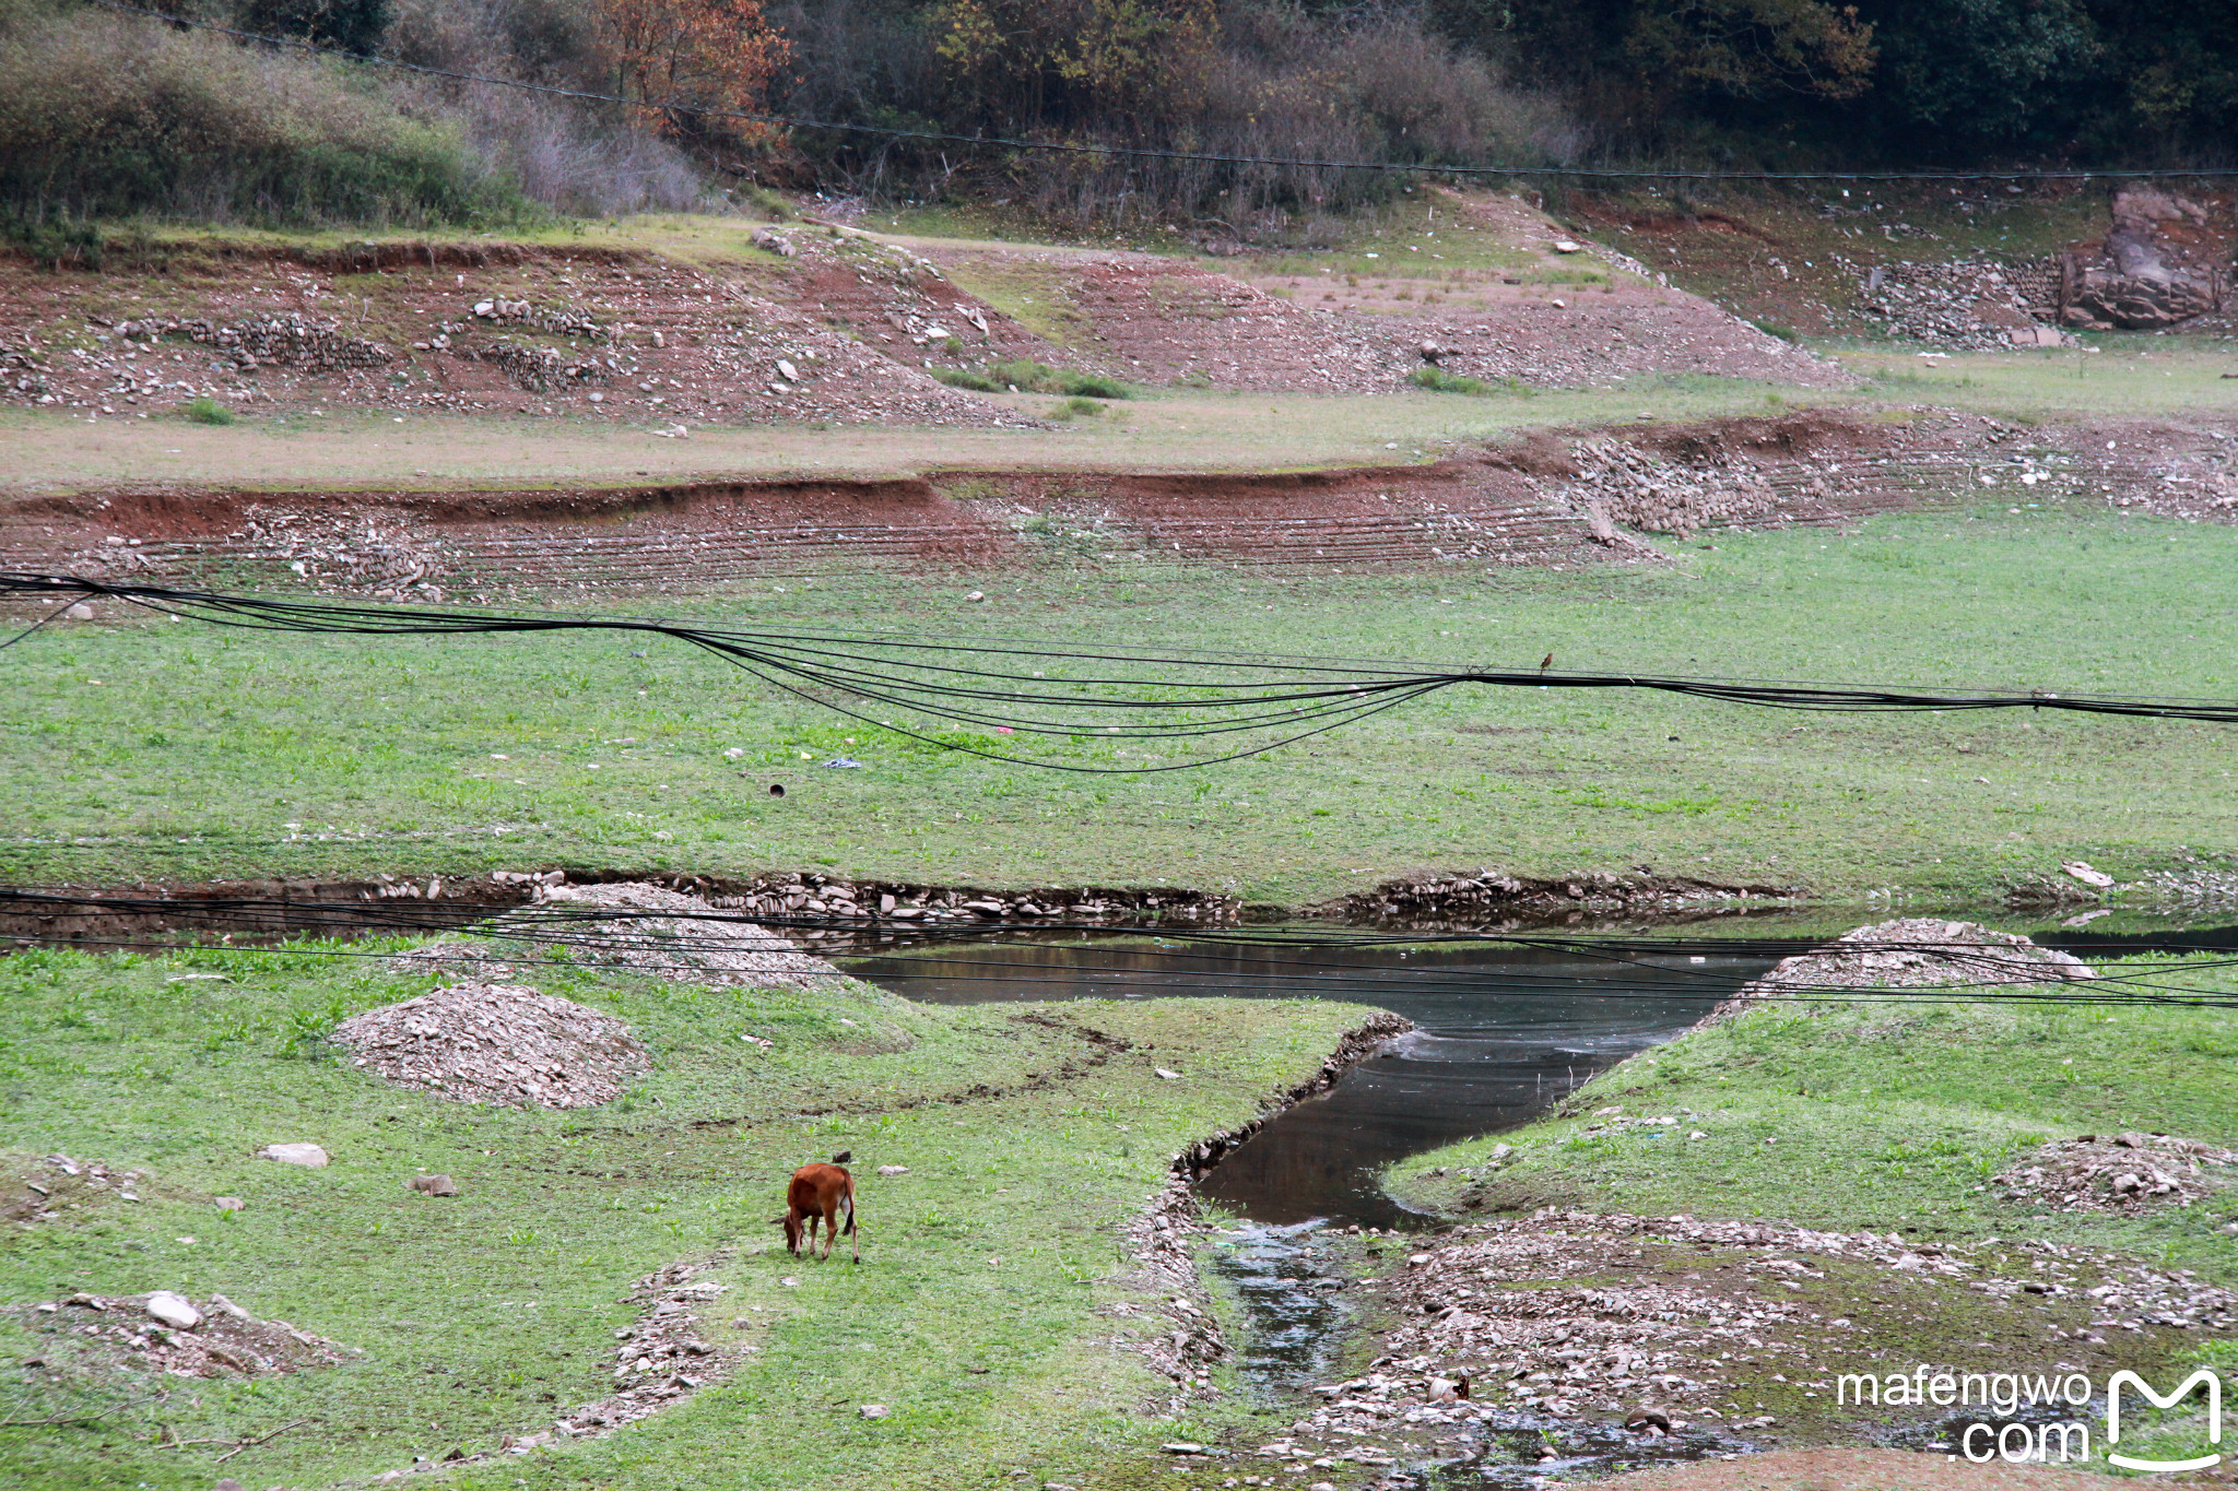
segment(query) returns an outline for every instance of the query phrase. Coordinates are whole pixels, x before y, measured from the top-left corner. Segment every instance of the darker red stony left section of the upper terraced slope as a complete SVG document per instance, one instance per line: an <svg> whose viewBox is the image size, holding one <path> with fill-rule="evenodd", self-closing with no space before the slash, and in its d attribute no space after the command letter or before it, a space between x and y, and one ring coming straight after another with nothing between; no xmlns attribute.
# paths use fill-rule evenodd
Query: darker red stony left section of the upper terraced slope
<svg viewBox="0 0 2238 1491"><path fill-rule="evenodd" d="M204 396L260 416L369 407L566 409L653 425L1029 422L799 308L774 255L736 273L564 250L457 268L430 246L345 275L309 257L181 255L114 275L0 259L0 349L22 362L0 369L0 398L76 418L170 411ZM909 262L891 268L927 275ZM320 346L260 355L255 367L190 329L199 320L206 335L226 338L289 317L325 333Z"/></svg>

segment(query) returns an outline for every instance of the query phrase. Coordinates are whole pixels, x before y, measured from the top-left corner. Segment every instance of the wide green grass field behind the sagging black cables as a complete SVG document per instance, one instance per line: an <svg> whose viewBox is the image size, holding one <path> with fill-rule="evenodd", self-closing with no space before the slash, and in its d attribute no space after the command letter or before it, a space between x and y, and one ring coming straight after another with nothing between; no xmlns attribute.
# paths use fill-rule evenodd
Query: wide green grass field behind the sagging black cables
<svg viewBox="0 0 2238 1491"><path fill-rule="evenodd" d="M1670 552L1667 568L1499 577L1115 570L1052 552L1025 574L777 581L671 610L1251 655L1535 666L1551 650L1562 668L2231 693L2225 528L1983 507ZM1258 760L1083 778L933 751L631 637L92 624L7 650L0 675L0 879L16 883L830 867L1296 905L1421 867L1645 863L1824 896L1981 899L2075 856L2133 876L2182 849L2220 854L2238 818L2227 731L2115 718L1464 686ZM1072 765L1173 760L1054 749ZM835 753L868 769L824 769Z"/></svg>

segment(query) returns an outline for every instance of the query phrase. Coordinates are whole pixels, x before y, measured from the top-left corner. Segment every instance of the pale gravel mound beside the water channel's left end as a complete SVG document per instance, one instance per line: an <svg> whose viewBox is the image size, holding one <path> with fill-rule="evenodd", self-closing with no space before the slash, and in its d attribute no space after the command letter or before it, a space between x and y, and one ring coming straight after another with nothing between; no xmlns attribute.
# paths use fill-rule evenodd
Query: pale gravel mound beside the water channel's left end
<svg viewBox="0 0 2238 1491"><path fill-rule="evenodd" d="M577 963L636 968L676 984L730 984L743 988L830 988L837 968L794 948L777 932L723 912L698 896L658 885L553 885L537 910L508 917L499 930L553 930L553 908L613 908L638 917L568 923L582 939ZM642 917L642 912L667 912Z"/></svg>

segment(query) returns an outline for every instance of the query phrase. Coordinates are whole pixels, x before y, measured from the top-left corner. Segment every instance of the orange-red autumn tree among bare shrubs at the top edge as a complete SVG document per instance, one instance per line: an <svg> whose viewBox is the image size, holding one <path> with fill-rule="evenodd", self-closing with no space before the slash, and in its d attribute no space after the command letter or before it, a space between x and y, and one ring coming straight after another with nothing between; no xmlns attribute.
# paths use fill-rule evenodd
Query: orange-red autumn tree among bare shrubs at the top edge
<svg viewBox="0 0 2238 1491"><path fill-rule="evenodd" d="M595 38L613 89L665 134L761 143L772 136L725 114L763 107L786 40L761 0L598 0Z"/></svg>

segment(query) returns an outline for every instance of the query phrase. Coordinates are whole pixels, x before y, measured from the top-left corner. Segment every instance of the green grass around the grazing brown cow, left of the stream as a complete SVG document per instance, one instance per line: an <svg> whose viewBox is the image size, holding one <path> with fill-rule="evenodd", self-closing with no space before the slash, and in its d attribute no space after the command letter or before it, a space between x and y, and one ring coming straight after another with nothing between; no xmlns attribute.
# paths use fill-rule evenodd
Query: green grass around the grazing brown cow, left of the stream
<svg viewBox="0 0 2238 1491"><path fill-rule="evenodd" d="M609 1440L445 1484L669 1491L712 1484L721 1466L725 1487L774 1491L803 1484L801 1446L817 1475L844 1466L857 1487L1038 1487L1083 1471L1099 1487L1159 1484L1162 1437L1220 1433L1244 1413L1231 1399L1188 1422L1139 1411L1170 1384L1126 1346L1159 1317L1106 1312L1139 1299L1117 1232L1179 1147L1311 1075L1361 1010L935 1008L853 981L794 995L535 968L517 977L622 1017L656 1069L604 1109L513 1111L392 1089L327 1044L336 1019L436 984L369 957L394 946L0 959L7 1174L65 1151L150 1176L139 1205L11 1223L0 1299L217 1290L363 1350L260 1381L58 1384L22 1366L60 1359L54 1339L0 1321L0 1417L16 1422L0 1426L0 1484L331 1484L495 1451L611 1390L638 1276L718 1250L734 1256L703 1274L727 1285L703 1335L754 1348L730 1381ZM1083 1026L1128 1048L1099 1064ZM333 1165L248 1158L280 1140L316 1140ZM835 1149L855 1151L862 1267L844 1250L790 1259L768 1225L792 1167ZM880 1165L911 1174L882 1178ZM403 1189L416 1171L457 1176L461 1196ZM228 1221L215 1194L248 1205ZM891 1417L862 1419L864 1402Z"/></svg>

